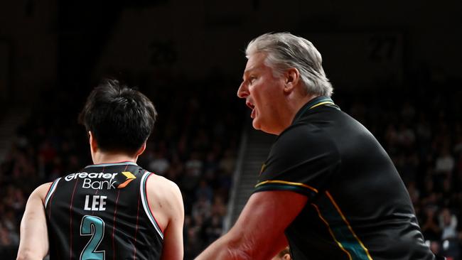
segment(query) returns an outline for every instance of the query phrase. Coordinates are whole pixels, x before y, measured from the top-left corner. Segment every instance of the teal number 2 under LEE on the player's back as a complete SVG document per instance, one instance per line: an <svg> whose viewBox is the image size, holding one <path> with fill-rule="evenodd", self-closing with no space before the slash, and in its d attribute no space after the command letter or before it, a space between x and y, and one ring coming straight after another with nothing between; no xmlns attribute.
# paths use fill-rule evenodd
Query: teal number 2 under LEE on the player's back
<svg viewBox="0 0 462 260"><path fill-rule="evenodd" d="M92 236L80 254L80 260L104 260L105 251L96 251L104 237L104 221L100 217L85 215L80 223L80 236Z"/></svg>

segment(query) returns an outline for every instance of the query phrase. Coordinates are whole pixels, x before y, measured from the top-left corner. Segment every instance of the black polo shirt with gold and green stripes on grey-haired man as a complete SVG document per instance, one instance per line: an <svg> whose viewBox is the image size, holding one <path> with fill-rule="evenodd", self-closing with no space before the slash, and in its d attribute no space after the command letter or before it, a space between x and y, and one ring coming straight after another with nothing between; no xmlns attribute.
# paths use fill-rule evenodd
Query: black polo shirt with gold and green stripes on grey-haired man
<svg viewBox="0 0 462 260"><path fill-rule="evenodd" d="M308 197L285 232L296 260L434 259L390 157L328 97L278 136L255 188L264 190Z"/></svg>

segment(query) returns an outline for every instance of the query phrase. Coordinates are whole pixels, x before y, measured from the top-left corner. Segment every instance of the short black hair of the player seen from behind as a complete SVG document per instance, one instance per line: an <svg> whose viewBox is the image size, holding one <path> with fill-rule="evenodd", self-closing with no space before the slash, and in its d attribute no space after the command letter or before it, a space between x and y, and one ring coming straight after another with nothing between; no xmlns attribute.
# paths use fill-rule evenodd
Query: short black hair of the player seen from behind
<svg viewBox="0 0 462 260"><path fill-rule="evenodd" d="M79 122L102 151L134 154L154 129L156 117L154 104L144 94L105 80L88 96Z"/></svg>

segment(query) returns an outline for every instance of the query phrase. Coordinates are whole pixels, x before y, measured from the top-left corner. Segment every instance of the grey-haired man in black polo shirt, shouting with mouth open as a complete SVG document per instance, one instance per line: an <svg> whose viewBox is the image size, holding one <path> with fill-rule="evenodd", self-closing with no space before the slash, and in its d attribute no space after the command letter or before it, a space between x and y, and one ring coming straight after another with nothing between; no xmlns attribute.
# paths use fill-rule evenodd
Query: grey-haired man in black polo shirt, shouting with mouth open
<svg viewBox="0 0 462 260"><path fill-rule="evenodd" d="M339 43L341 44L341 43ZM234 227L198 259L435 259L390 157L331 99L306 39L269 33L247 46L237 95L277 139Z"/></svg>

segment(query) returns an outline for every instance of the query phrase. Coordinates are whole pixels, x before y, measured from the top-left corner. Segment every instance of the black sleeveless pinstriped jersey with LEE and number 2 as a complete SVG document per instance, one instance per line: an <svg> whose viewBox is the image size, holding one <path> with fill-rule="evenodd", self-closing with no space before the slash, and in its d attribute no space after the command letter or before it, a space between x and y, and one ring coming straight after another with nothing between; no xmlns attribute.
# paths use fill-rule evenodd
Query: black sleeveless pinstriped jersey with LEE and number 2
<svg viewBox="0 0 462 260"><path fill-rule="evenodd" d="M136 163L87 166L58 178L45 197L50 259L159 259L163 232Z"/></svg>

